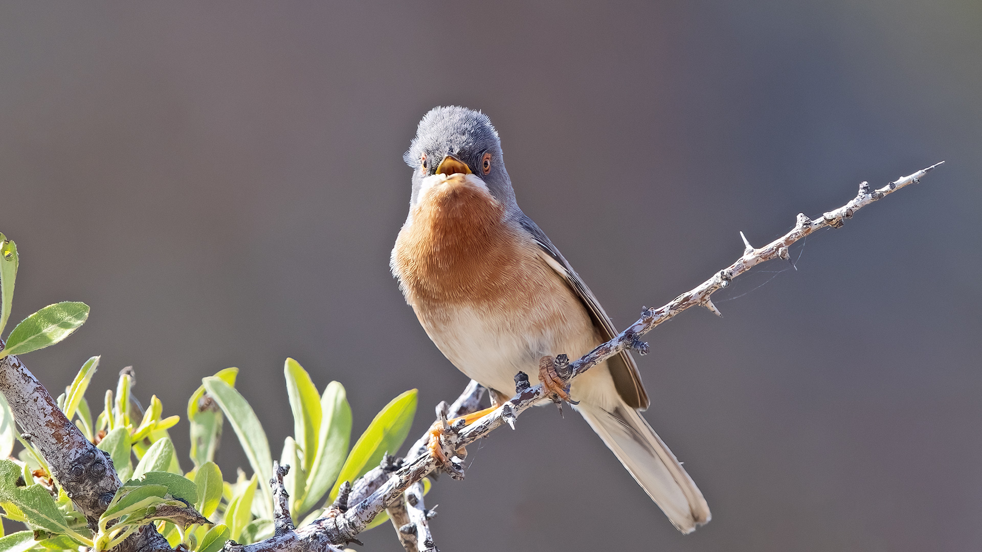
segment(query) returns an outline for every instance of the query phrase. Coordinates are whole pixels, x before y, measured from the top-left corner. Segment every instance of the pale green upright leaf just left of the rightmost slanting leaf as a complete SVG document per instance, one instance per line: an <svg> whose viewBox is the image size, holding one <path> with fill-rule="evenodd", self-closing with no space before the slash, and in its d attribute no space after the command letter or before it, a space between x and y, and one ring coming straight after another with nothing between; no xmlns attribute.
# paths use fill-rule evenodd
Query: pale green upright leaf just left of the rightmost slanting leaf
<svg viewBox="0 0 982 552"><path fill-rule="evenodd" d="M348 404L345 386L337 381L329 383L320 406L323 416L317 454L307 473L306 493L298 509L301 513L313 508L338 478L352 438L352 407Z"/></svg>

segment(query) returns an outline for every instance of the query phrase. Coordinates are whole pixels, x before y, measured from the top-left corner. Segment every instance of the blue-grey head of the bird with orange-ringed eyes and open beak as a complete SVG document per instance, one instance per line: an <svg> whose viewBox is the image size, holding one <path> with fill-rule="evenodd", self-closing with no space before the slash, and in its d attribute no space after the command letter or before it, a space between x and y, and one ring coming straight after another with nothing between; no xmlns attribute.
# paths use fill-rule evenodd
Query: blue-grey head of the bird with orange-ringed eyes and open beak
<svg viewBox="0 0 982 552"><path fill-rule="evenodd" d="M505 170L501 139L491 120L480 111L459 106L434 107L419 121L416 137L403 158L413 169L410 206L416 204L424 178L436 174L438 169L463 169L463 164L463 170L480 178L506 209L518 211L512 181Z"/></svg>

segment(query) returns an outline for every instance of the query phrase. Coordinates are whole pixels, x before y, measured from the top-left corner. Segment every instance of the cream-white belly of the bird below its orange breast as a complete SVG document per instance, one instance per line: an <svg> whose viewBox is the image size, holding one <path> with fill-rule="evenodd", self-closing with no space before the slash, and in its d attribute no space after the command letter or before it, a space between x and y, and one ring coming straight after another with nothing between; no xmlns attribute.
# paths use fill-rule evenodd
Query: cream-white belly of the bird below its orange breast
<svg viewBox="0 0 982 552"><path fill-rule="evenodd" d="M563 305L573 306L573 312L561 312L555 306L531 304L519 312L513 306L506 316L494 304L454 305L427 308L419 318L437 348L467 377L512 396L519 371L528 375L532 385L538 383L542 357L566 354L574 360L600 343L581 305ZM571 395L574 400L598 405L616 401L606 363L577 377Z"/></svg>

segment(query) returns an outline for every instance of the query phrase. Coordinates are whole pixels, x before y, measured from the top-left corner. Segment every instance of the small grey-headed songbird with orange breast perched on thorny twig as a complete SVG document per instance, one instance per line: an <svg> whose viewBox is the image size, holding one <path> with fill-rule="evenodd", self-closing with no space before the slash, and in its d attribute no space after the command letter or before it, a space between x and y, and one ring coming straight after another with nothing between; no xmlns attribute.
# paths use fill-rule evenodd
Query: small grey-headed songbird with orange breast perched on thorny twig
<svg viewBox="0 0 982 552"><path fill-rule="evenodd" d="M490 390L516 394L518 371L568 399L669 520L691 532L709 506L640 411L649 401L627 352L567 388L552 357L577 359L617 335L549 238L518 208L491 121L464 107L427 113L405 156L409 216L392 272L437 348ZM567 394L567 389L569 390Z"/></svg>

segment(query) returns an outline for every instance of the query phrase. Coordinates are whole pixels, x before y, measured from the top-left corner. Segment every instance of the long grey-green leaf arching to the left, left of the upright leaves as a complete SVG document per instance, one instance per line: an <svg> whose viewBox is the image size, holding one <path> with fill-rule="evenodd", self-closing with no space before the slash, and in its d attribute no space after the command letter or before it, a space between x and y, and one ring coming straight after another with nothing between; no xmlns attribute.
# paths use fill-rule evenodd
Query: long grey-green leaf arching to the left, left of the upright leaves
<svg viewBox="0 0 982 552"><path fill-rule="evenodd" d="M229 418L229 424L232 425L232 429L239 437L239 442L246 452L246 458L249 465L252 466L252 471L258 474L261 480L270 480L273 477L273 457L269 453L269 441L266 439L266 432L263 431L262 424L259 423L259 418L255 415L252 407L248 405L246 399L238 391L221 378L212 376L201 381L208 394L218 403L218 407L222 409L225 416ZM261 511L271 517L273 494L268 485L261 485L261 487L266 498L263 501ZM230 524L229 526L232 527L232 534L234 535L232 538L235 539L239 533L236 532L235 525Z"/></svg>

